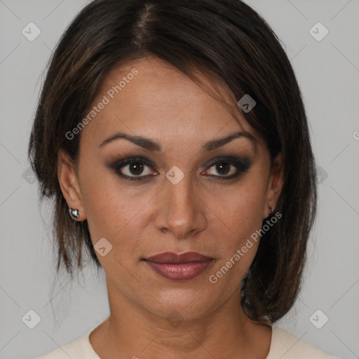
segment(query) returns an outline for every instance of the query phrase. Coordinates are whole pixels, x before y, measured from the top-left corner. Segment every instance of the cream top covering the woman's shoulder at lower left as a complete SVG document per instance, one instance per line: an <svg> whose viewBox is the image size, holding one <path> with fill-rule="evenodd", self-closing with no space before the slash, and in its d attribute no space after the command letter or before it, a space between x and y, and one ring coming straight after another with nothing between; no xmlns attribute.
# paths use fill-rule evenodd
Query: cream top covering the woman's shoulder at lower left
<svg viewBox="0 0 359 359"><path fill-rule="evenodd" d="M60 346L36 359L98 359L99 357L95 355L95 352L90 347L88 334L89 332L71 341L69 344Z"/></svg>

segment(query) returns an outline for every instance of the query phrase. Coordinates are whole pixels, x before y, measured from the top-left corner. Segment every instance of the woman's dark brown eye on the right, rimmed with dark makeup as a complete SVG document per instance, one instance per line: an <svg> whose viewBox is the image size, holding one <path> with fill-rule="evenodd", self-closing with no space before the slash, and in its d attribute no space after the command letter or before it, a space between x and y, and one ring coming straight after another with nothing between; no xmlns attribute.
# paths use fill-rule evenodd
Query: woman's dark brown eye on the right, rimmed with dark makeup
<svg viewBox="0 0 359 359"><path fill-rule="evenodd" d="M203 172L203 175L219 177L220 179L231 179L238 177L250 168L249 158L224 157L217 158L215 163Z"/></svg>

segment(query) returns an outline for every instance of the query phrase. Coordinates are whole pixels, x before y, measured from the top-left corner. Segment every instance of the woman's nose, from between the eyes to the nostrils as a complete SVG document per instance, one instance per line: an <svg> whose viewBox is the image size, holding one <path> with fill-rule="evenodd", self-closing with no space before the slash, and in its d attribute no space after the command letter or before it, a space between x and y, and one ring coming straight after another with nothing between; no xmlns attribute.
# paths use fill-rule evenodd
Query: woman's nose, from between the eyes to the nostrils
<svg viewBox="0 0 359 359"><path fill-rule="evenodd" d="M165 179L164 188L158 198L156 228L163 233L172 233L177 239L195 236L207 226L204 199L199 191L195 193L189 177L177 184Z"/></svg>

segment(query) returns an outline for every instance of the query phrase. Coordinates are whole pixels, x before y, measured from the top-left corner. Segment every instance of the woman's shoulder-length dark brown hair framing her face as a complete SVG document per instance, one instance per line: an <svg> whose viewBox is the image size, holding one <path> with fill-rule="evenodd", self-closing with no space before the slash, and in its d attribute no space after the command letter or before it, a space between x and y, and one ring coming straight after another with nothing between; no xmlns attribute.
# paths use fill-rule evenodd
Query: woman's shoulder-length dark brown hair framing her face
<svg viewBox="0 0 359 359"><path fill-rule="evenodd" d="M211 72L236 99L257 102L243 113L263 136L271 159L282 153L284 184L276 210L283 217L266 231L243 278L241 305L258 323L273 323L299 293L306 243L316 215L316 168L302 94L290 61L266 21L240 0L96 0L62 35L50 59L29 141L40 198L54 199L57 272L73 276L83 250L101 267L87 221L75 222L57 179L57 151L76 160L81 121L115 66L146 56L187 76Z"/></svg>

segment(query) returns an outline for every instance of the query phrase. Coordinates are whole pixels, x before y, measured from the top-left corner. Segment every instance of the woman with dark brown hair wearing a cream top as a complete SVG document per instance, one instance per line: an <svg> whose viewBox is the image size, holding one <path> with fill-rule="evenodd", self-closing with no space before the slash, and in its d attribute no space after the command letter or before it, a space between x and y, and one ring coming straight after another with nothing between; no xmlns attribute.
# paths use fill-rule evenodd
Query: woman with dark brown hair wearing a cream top
<svg viewBox="0 0 359 359"><path fill-rule="evenodd" d="M239 0L97 0L50 61L29 143L57 271L110 316L42 359L334 358L274 323L316 214L302 95Z"/></svg>

